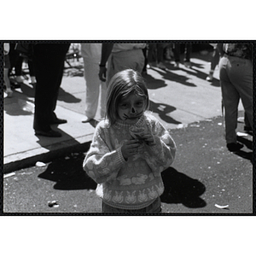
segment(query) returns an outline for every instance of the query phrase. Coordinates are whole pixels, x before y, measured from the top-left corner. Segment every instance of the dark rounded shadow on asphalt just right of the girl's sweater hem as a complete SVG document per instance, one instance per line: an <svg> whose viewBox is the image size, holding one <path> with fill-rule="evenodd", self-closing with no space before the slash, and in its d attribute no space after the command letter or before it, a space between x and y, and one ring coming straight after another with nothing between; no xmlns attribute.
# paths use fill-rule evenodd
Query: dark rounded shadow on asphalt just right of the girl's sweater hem
<svg viewBox="0 0 256 256"><path fill-rule="evenodd" d="M206 191L203 183L177 172L172 167L166 169L161 175L165 184L165 191L160 196L162 202L168 204L182 203L184 207L189 208L207 206L206 201L200 198L200 195Z"/></svg>

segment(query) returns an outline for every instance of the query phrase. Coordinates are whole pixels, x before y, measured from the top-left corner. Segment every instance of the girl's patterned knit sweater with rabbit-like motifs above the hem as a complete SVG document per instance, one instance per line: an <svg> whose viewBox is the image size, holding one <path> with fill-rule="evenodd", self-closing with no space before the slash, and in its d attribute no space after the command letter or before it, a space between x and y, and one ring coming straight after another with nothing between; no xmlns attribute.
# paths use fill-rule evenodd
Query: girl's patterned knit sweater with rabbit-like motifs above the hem
<svg viewBox="0 0 256 256"><path fill-rule="evenodd" d="M131 140L131 127L143 127L154 137L154 145L143 143L143 154L125 160L121 147ZM171 135L151 114L143 114L136 125L102 120L84 159L84 171L98 183L96 194L109 206L123 209L148 207L164 191L160 172L174 160L176 145Z"/></svg>

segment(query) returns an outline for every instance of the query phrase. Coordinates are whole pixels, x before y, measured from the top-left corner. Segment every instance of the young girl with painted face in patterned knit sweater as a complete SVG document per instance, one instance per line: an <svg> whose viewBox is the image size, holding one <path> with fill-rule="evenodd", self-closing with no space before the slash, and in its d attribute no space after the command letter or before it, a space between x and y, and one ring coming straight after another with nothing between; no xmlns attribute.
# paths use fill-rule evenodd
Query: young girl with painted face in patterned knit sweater
<svg viewBox="0 0 256 256"><path fill-rule="evenodd" d="M146 113L149 99L140 73L126 69L108 84L106 119L97 126L84 171L98 183L102 212L158 213L160 172L174 160L172 137Z"/></svg>

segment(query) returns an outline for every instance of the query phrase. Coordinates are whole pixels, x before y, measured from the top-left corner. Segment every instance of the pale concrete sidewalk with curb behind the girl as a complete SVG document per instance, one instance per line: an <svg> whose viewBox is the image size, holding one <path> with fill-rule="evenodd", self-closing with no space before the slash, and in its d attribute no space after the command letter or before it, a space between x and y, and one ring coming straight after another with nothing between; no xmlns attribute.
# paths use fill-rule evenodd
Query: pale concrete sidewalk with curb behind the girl
<svg viewBox="0 0 256 256"><path fill-rule="evenodd" d="M211 119L222 114L218 67L212 83L206 81L211 53L193 53L192 68L166 61L167 70L148 69L150 110L167 129L186 127L188 124ZM94 132L94 122L83 124L85 82L83 63L71 61L66 66L55 113L67 124L55 125L62 137L37 137L32 129L34 89L21 84L12 98L4 98L4 172L12 172L37 161L48 162L66 152L87 150ZM242 110L240 105L239 110ZM97 113L96 119L99 118Z"/></svg>

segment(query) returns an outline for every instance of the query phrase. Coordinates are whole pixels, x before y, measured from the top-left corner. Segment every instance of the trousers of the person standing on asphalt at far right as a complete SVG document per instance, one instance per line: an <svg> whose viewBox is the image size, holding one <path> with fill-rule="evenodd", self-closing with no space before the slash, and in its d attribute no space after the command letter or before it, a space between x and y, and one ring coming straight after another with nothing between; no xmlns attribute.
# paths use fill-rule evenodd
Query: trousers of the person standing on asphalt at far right
<svg viewBox="0 0 256 256"><path fill-rule="evenodd" d="M238 104L241 98L250 125L253 124L252 61L224 55L219 61L219 79L224 102L226 143L236 143Z"/></svg>

